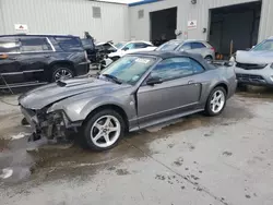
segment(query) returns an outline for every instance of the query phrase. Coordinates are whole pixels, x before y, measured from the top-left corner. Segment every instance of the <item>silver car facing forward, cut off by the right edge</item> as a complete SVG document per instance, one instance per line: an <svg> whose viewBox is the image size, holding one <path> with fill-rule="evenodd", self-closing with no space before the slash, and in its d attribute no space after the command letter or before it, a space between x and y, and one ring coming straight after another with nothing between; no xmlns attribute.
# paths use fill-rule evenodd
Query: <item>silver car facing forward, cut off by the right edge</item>
<svg viewBox="0 0 273 205"><path fill-rule="evenodd" d="M273 38L249 51L237 51L233 60L238 83L273 86Z"/></svg>

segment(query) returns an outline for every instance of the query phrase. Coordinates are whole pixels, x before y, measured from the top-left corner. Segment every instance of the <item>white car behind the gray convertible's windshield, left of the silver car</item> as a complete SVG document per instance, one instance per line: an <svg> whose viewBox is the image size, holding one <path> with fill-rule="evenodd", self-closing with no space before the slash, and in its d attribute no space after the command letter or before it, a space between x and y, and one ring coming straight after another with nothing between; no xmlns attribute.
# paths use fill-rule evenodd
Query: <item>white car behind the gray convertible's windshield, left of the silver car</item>
<svg viewBox="0 0 273 205"><path fill-rule="evenodd" d="M156 49L156 47L154 47L152 43L143 40L121 41L116 44L115 47L117 48L117 51L108 55L108 58L114 61L128 53L138 51L153 51Z"/></svg>

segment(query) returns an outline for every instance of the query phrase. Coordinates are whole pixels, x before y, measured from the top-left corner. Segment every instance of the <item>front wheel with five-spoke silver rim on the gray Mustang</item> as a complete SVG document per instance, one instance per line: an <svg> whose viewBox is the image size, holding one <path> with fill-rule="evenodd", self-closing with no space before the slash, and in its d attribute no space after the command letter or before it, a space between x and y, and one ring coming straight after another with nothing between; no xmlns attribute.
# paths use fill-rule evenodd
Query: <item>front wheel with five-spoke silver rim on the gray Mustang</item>
<svg viewBox="0 0 273 205"><path fill-rule="evenodd" d="M118 112L98 111L83 125L82 146L96 152L110 149L123 137L124 130L124 120Z"/></svg>

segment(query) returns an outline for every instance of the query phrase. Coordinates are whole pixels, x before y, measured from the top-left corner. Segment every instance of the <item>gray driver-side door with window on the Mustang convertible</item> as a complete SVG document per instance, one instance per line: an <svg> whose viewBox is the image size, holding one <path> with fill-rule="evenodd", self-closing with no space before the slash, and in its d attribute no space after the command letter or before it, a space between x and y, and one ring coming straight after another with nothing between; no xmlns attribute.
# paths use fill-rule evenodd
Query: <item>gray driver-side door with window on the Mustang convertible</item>
<svg viewBox="0 0 273 205"><path fill-rule="evenodd" d="M151 86L143 82L138 91L140 126L194 109L201 95L201 84L194 81L194 75L203 71L194 69L186 57L159 62L147 80L159 77L163 83Z"/></svg>

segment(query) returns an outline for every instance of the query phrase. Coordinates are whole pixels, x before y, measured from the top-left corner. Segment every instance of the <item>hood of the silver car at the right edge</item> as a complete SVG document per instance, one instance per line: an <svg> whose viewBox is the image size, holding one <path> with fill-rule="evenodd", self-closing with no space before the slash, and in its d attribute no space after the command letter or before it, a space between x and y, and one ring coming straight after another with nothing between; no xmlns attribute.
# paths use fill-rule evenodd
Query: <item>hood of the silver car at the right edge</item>
<svg viewBox="0 0 273 205"><path fill-rule="evenodd" d="M236 52L236 61L240 63L273 63L273 51L244 51L238 50Z"/></svg>

